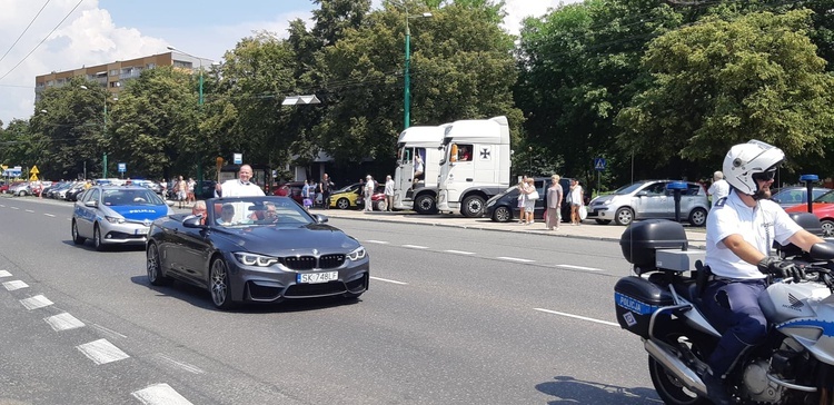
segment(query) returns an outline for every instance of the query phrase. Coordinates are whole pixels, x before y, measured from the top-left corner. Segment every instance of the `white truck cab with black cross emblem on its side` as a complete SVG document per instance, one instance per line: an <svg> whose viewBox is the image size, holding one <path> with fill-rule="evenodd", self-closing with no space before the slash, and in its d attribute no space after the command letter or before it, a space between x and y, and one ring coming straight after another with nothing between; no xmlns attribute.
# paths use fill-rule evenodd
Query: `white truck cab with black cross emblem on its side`
<svg viewBox="0 0 834 405"><path fill-rule="evenodd" d="M486 200L509 187L507 117L446 125L443 148L437 210L481 216Z"/></svg>

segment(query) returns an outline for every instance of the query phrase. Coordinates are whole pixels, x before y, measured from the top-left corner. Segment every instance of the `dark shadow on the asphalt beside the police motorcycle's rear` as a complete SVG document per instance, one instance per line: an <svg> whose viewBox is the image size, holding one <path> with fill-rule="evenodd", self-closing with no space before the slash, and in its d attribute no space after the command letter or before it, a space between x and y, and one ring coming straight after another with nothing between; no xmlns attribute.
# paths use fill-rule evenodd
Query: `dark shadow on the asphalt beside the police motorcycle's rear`
<svg viewBox="0 0 834 405"><path fill-rule="evenodd" d="M553 382L536 385L536 389L554 397L548 404L663 404L654 389L626 388L604 383L586 382L570 376L556 376Z"/></svg>

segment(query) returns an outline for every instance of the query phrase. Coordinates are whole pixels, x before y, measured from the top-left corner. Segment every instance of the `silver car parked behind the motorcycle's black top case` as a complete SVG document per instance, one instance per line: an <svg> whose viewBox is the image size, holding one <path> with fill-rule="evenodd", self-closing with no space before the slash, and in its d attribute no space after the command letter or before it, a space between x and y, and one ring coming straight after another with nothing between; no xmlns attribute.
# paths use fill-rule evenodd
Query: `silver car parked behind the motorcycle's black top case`
<svg viewBox="0 0 834 405"><path fill-rule="evenodd" d="M636 181L594 198L588 205L588 218L596 219L597 224L609 224L613 220L617 225L651 218L674 220L675 197L667 186L676 181ZM681 220L687 220L693 226L704 226L708 211L709 200L704 187L697 182L686 182L686 189L681 194Z"/></svg>

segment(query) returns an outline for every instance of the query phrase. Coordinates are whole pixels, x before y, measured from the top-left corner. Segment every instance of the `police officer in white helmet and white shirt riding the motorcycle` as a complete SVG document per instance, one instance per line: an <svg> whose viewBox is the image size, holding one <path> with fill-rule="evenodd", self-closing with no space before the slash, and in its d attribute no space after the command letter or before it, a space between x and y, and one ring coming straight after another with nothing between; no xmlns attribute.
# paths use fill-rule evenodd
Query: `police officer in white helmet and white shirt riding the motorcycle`
<svg viewBox="0 0 834 405"><path fill-rule="evenodd" d="M767 333L757 300L767 287L767 275L797 281L805 276L793 263L768 256L773 241L792 243L805 251L824 243L768 199L784 159L781 149L757 140L734 146L724 158L732 190L715 204L706 221L706 265L713 279L703 296L706 317L722 333L703 378L715 404L732 403L724 377L744 350L762 343Z"/></svg>

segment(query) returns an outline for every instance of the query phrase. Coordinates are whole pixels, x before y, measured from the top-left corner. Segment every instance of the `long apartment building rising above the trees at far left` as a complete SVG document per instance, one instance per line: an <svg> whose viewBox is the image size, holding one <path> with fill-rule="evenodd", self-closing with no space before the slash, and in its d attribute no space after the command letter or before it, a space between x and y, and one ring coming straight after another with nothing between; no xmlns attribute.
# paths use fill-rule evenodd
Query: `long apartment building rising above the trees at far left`
<svg viewBox="0 0 834 405"><path fill-rule="evenodd" d="M147 57L117 60L115 62L91 67L81 67L75 70L64 70L37 76L34 78L34 100L39 101L41 92L50 87L61 87L73 77L86 77L89 81L98 82L107 88L113 96L121 90L122 83L136 79L145 69L153 69L160 66L173 66L175 68L198 71L200 67L208 68L214 61L205 58L196 58L181 52L171 51Z"/></svg>

